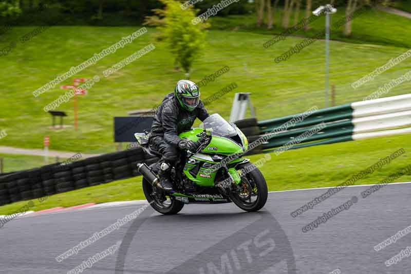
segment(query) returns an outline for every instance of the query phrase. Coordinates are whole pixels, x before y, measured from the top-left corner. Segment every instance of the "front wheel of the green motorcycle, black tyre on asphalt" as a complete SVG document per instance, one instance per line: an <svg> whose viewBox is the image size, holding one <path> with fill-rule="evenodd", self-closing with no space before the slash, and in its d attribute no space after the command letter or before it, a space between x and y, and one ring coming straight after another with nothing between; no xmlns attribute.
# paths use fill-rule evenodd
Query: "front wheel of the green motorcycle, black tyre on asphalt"
<svg viewBox="0 0 411 274"><path fill-rule="evenodd" d="M241 182L233 186L230 198L239 208L245 211L257 211L267 202L267 182L259 169L251 162L236 167Z"/></svg>

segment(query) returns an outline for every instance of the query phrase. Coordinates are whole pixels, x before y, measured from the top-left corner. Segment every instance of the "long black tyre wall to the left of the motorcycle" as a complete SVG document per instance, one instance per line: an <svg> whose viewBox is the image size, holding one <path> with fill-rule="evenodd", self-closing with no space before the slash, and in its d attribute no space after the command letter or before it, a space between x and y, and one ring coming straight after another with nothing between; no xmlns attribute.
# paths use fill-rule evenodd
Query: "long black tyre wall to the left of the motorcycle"
<svg viewBox="0 0 411 274"><path fill-rule="evenodd" d="M142 148L135 148L67 165L53 163L41 168L1 174L0 206L135 177L140 175L137 163L151 165L157 160L147 157Z"/></svg>

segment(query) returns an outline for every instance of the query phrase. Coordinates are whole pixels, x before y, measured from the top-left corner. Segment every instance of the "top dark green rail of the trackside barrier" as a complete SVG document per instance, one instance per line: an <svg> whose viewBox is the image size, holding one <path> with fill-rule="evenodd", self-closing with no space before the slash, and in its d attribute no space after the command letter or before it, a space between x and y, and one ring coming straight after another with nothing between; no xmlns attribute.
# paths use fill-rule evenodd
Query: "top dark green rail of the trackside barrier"
<svg viewBox="0 0 411 274"><path fill-rule="evenodd" d="M321 122L332 122L344 119L352 119L353 108L351 104L344 104L339 106L327 107L314 111L306 117L303 121L297 122L291 126L287 127L287 130L296 129L298 127L304 127L314 124L319 124ZM275 129L280 129L281 126L295 117L303 116L304 113L289 115L281 118L274 118L264 121L259 121L258 126L261 132L271 132Z"/></svg>

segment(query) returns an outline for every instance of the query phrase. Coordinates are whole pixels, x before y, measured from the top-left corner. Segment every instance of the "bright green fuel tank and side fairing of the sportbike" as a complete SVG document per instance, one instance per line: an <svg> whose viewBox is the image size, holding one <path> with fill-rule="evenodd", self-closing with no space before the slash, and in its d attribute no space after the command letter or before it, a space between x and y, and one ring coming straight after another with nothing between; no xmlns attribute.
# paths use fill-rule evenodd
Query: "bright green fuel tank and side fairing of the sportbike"
<svg viewBox="0 0 411 274"><path fill-rule="evenodd" d="M201 132L203 132L203 129L196 128L189 132L183 132L179 134L179 137L182 139L185 138L185 139L189 139L191 141L196 142L199 139L197 135ZM209 145L207 145L206 148L202 150L201 155L199 154L193 155L191 156L191 159L195 159L195 160L202 161L202 162L208 162L213 165L216 165L219 162L213 161L211 158L212 155L221 154L221 155L228 156L228 155L235 154L235 153L241 154L243 152L244 152L244 149L242 149L240 145L236 144L234 141L228 138L225 138L225 137L213 135L211 142L209 143ZM244 160L245 160L244 158L237 158L237 159L232 160L230 163L240 162ZM206 168L200 168L197 176L194 177L193 175L190 174L190 171L193 168L194 167L190 165L190 163L187 163L184 167L183 172L190 180L194 181L199 186L203 186L203 187L213 187L214 186L214 180L215 180L217 171L210 173L210 172L205 172Z"/></svg>

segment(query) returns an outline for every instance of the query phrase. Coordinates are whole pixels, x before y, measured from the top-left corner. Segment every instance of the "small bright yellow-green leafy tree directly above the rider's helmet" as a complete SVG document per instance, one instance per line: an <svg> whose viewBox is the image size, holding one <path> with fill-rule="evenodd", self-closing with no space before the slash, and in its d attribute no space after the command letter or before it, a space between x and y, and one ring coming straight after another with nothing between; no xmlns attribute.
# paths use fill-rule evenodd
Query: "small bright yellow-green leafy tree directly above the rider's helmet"
<svg viewBox="0 0 411 274"><path fill-rule="evenodd" d="M190 77L190 68L204 47L204 28L208 23L193 24L195 11L192 7L182 11L176 0L160 0L164 9L153 10L156 15L147 16L145 25L158 26L160 40L164 40L179 64Z"/></svg>

